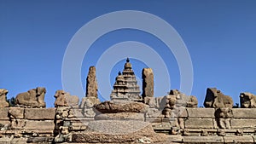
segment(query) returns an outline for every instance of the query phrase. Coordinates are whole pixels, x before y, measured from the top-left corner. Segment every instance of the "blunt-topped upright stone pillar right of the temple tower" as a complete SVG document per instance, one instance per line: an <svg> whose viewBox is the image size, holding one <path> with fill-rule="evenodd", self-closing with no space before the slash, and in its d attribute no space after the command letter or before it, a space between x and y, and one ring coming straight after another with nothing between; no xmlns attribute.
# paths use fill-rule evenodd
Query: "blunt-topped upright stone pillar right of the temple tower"
<svg viewBox="0 0 256 144"><path fill-rule="evenodd" d="M143 68L143 98L154 96L154 73L152 68Z"/></svg>

